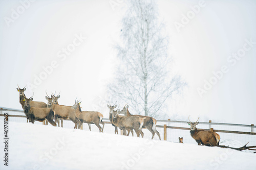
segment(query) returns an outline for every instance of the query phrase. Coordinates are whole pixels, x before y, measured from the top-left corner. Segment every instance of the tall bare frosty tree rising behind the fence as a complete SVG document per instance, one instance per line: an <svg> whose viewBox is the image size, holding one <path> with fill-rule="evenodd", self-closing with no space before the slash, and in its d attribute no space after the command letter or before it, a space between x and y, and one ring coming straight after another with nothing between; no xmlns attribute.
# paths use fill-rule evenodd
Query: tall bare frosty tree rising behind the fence
<svg viewBox="0 0 256 170"><path fill-rule="evenodd" d="M120 64L109 92L129 102L135 114L157 116L185 85L179 76L170 76L168 37L163 32L155 1L127 1L121 42L115 46Z"/></svg>

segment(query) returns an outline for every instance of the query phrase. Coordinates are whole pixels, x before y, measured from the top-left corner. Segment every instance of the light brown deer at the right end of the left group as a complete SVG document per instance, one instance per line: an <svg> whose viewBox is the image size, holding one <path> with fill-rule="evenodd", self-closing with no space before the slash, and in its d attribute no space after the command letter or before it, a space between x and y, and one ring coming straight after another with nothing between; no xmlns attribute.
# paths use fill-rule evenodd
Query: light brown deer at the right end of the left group
<svg viewBox="0 0 256 170"><path fill-rule="evenodd" d="M76 117L80 120L80 124L78 126L78 129L81 128L83 123L87 123L89 126L90 131L91 130L91 124L95 124L99 128L99 132L103 132L104 129L104 123L102 122L103 115L100 112L97 111L82 111L80 107L81 102L77 101L71 108L75 109ZM101 126L99 125L102 125Z"/></svg>

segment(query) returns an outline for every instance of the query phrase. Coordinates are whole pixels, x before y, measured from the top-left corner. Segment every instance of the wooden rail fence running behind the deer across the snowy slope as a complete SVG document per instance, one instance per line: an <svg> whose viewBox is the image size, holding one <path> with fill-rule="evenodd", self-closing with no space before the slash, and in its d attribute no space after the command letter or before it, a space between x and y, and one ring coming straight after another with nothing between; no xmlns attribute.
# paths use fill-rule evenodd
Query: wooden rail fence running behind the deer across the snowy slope
<svg viewBox="0 0 256 170"><path fill-rule="evenodd" d="M4 116L3 112L4 111L13 111L13 112L22 112L22 110L9 110L9 109L0 109L0 116ZM23 117L26 118L25 115L8 115L9 117ZM66 119L66 120L70 120L70 119ZM156 127L158 128L163 128L163 136L164 136L164 140L167 140L167 129L179 129L179 130L189 130L189 128L184 128L184 127L176 127L176 126L167 126L168 123L187 123L184 121L175 121L175 120L157 120L158 122L162 122L164 123L164 125L157 125ZM103 123L105 124L111 124L109 119L103 118ZM240 125L240 124L224 124L224 123L211 123L211 120L209 120L209 123L205 123L205 122L200 122L199 124L204 124L204 125L209 125L209 129L203 129L206 131L211 131L211 132L221 132L221 133L232 133L232 134L246 134L246 135L256 135L256 133L254 132L254 128L256 128L256 126L252 125ZM241 131L228 131L228 130L216 130L214 128L211 128L211 125L224 125L224 126L240 126L240 127L250 127L251 128L251 132L241 132Z"/></svg>

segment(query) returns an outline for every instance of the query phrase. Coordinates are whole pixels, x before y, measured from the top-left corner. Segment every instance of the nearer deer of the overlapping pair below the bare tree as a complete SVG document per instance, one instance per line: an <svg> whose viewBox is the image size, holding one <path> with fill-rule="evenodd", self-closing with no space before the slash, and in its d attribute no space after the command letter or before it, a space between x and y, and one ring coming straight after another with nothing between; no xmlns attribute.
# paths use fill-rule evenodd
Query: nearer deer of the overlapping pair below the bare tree
<svg viewBox="0 0 256 170"><path fill-rule="evenodd" d="M112 123L123 130L123 135L126 135L127 129L134 129L135 133L137 134L137 137L140 136L143 138L144 133L142 132L141 128L143 126L143 121L146 119L146 117L139 117L139 116L120 116L118 113L120 112L120 109L118 110L112 110Z"/></svg>

